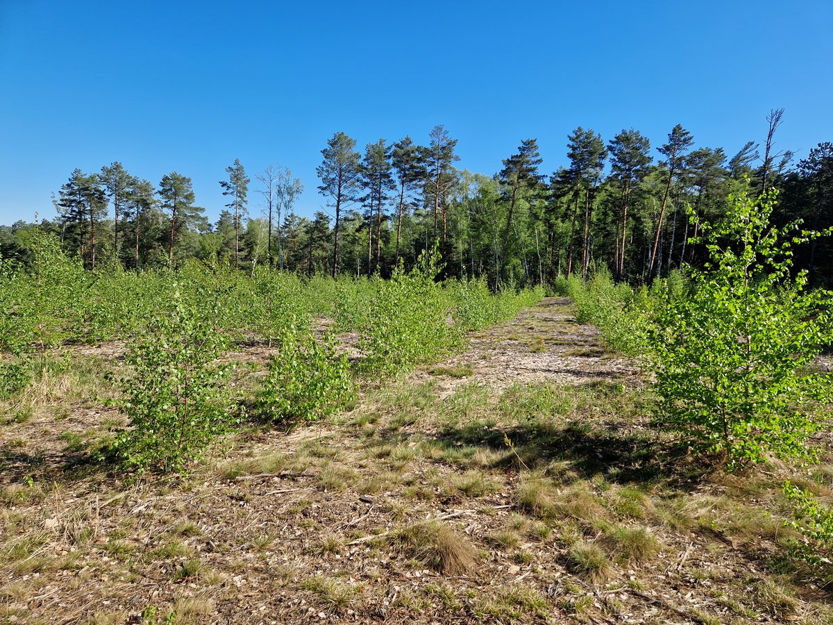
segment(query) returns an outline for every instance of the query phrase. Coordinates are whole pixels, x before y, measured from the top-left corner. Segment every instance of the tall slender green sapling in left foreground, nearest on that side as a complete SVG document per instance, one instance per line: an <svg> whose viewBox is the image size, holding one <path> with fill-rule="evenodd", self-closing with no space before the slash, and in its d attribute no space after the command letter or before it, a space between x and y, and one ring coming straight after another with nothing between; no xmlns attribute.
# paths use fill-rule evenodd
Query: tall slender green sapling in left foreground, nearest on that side
<svg viewBox="0 0 833 625"><path fill-rule="evenodd" d="M173 288L173 312L157 314L129 349L133 375L120 381L129 423L112 451L122 467L140 472L184 472L237 421L227 387L232 366L217 363L227 338L211 323L216 308L201 314Z"/></svg>

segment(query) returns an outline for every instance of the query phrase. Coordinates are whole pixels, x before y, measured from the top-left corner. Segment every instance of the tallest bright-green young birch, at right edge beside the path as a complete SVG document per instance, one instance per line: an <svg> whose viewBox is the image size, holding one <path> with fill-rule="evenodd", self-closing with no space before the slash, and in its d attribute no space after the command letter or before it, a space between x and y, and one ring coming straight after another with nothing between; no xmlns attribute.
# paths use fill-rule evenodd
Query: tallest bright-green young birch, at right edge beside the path
<svg viewBox="0 0 833 625"><path fill-rule="evenodd" d="M831 376L808 370L833 338L831 293L805 292L806 273L790 274L791 245L819 233L771 226L776 192L747 193L730 196L720 223L701 223L710 260L692 271L688 298L661 296L651 331L671 425L730 468L768 452L810 456L818 407L833 398Z"/></svg>

